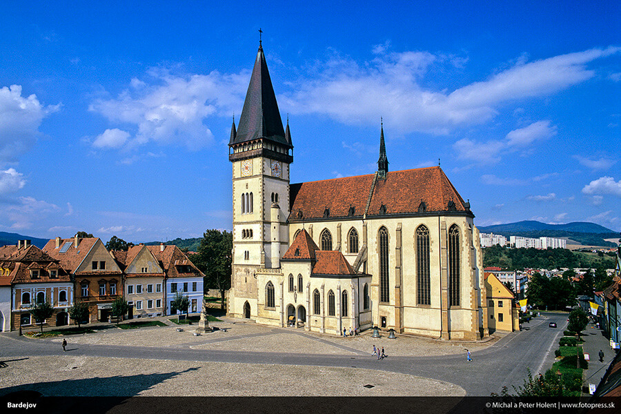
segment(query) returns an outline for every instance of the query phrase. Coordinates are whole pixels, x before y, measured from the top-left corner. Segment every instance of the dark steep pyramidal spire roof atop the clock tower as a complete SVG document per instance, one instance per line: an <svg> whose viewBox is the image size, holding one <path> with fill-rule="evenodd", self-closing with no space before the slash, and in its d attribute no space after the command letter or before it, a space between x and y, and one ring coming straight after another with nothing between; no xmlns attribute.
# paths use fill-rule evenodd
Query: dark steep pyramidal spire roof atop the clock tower
<svg viewBox="0 0 621 414"><path fill-rule="evenodd" d="M262 46L259 46L259 52L257 52L242 116L239 117L239 126L237 126L236 132L231 131L231 139L228 145L259 138L266 138L292 147L290 138L285 137L285 131L282 127L282 119Z"/></svg>

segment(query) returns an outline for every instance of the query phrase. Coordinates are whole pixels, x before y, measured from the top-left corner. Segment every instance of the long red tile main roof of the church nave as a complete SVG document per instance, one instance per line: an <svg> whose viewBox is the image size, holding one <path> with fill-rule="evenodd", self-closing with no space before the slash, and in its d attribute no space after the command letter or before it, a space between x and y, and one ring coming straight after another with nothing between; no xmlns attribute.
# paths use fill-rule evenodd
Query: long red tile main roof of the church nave
<svg viewBox="0 0 621 414"><path fill-rule="evenodd" d="M322 219L328 212L328 217L347 217L351 207L353 216L359 217L368 201L368 216L381 215L382 206L386 215L418 213L422 202L426 213L453 210L472 214L440 167L388 172L375 186L373 179L374 175L359 175L292 184L289 220Z"/></svg>

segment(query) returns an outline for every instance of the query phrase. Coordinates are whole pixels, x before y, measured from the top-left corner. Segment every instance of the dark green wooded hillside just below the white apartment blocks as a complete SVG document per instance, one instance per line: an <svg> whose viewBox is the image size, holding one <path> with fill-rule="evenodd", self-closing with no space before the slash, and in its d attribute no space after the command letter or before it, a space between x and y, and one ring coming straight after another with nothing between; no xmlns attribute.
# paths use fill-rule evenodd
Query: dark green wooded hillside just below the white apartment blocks
<svg viewBox="0 0 621 414"><path fill-rule="evenodd" d="M613 268L612 254L572 252L564 248L506 248L492 246L483 249L483 266L498 266L508 270L524 268Z"/></svg>

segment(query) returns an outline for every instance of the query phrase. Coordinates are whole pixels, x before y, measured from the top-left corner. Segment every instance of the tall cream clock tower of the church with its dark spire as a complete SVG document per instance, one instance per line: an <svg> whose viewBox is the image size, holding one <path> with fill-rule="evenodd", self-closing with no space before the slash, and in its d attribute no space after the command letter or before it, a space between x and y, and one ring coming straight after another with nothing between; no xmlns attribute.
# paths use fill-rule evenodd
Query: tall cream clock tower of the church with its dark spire
<svg viewBox="0 0 621 414"><path fill-rule="evenodd" d="M233 266L228 312L257 315L259 268L280 267L288 247L289 166L293 144L278 110L263 47L255 60L246 101L230 131L233 163Z"/></svg>

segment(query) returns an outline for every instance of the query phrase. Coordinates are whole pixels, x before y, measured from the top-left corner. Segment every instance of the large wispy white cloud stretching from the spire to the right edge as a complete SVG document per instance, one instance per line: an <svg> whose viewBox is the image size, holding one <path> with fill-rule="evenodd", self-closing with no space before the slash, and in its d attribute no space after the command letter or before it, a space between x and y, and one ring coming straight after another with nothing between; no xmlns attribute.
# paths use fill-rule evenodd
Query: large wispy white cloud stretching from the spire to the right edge
<svg viewBox="0 0 621 414"><path fill-rule="evenodd" d="M386 49L375 46L375 59L364 63L336 55L320 64L317 73L293 83L295 92L279 101L295 114L320 113L347 124L366 124L378 114L390 114L388 121L400 132L446 134L456 126L484 124L503 103L544 97L586 81L595 75L587 63L621 51L592 49L533 62L522 57L489 79L451 92L425 87L422 80L432 68L455 66L455 59ZM536 127L509 139L515 145L537 139Z"/></svg>

